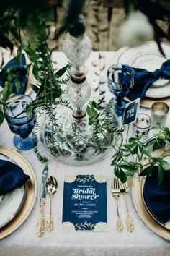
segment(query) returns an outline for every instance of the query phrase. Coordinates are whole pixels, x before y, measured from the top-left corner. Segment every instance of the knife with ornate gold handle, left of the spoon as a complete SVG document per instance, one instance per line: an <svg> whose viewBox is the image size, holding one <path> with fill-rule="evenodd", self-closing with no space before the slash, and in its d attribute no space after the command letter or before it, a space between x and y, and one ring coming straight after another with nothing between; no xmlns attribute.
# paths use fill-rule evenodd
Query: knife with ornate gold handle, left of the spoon
<svg viewBox="0 0 170 256"><path fill-rule="evenodd" d="M46 197L46 189L45 183L48 178L48 165L42 171L42 181L41 181L41 188L40 188L40 216L37 221L37 229L36 233L38 236L42 236L45 231L45 218L44 218L44 208L45 208L45 197Z"/></svg>

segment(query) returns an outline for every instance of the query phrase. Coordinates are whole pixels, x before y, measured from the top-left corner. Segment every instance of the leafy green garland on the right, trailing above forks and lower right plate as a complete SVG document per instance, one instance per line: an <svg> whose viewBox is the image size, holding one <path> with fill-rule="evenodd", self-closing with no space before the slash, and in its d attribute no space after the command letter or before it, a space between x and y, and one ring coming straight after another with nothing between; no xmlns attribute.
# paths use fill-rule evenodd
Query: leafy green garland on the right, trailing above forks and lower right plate
<svg viewBox="0 0 170 256"><path fill-rule="evenodd" d="M87 108L87 114L91 124L98 123L97 108L99 105L93 103L91 108ZM158 132L152 137L143 141L143 135L139 137L130 137L127 142L123 138L123 128L115 128L117 139L112 145L114 151L112 155L111 165L115 176L121 180L122 183L127 181L127 176L133 176L138 172L140 176L151 175L153 166L158 165L158 184L164 180L164 171L170 170L170 164L164 160L164 156L170 149L170 129L168 127L161 127L161 124L156 124ZM102 133L102 127L96 127L94 131ZM109 127L108 127L109 128ZM153 129L153 128L151 128ZM107 137L105 140L108 142ZM160 156L152 156L151 151L161 148L162 154ZM148 158L148 163L143 165L140 161L143 158Z"/></svg>

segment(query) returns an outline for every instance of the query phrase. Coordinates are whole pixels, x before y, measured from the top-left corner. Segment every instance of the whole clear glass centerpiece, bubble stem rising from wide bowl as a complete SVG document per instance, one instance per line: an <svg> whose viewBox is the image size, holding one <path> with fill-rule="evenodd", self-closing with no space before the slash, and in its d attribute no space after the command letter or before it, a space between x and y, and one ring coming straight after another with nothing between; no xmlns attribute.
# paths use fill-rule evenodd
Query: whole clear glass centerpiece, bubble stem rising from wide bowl
<svg viewBox="0 0 170 256"><path fill-rule="evenodd" d="M68 33L63 51L72 64L66 88L66 99L71 108L52 108L54 121L50 116L44 116L40 140L48 153L62 163L74 166L97 163L112 151L119 121L112 108L107 105L95 108L89 101L91 88L84 66L91 53L88 36L75 38Z"/></svg>

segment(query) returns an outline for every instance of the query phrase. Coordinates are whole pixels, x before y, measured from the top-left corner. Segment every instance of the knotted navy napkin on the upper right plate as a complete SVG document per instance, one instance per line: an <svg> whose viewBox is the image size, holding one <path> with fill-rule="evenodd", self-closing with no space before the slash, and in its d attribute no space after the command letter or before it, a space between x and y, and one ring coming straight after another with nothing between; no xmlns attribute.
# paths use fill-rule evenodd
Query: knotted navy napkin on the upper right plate
<svg viewBox="0 0 170 256"><path fill-rule="evenodd" d="M170 59L162 64L161 69L156 69L154 72L149 72L146 69L133 69L135 70L134 87L127 95L132 101L136 98L144 98L146 90L159 77L170 79Z"/></svg>

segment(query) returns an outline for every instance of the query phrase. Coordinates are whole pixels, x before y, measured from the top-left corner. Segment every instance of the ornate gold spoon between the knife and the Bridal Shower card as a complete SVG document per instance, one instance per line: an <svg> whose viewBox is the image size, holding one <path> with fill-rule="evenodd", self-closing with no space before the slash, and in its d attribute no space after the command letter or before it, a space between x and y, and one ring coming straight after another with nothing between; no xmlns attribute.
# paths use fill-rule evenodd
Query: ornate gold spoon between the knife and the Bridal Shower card
<svg viewBox="0 0 170 256"><path fill-rule="evenodd" d="M54 224L53 224L53 217L52 217L52 210L51 210L51 205L52 205L52 198L53 195L55 195L55 193L57 192L58 189L58 182L55 179L54 176L50 176L45 184L46 190L48 192L48 195L50 197L50 211L48 214L48 219L47 219L47 223L46 223L46 229L48 232L53 231L54 229Z"/></svg>

